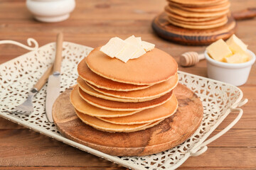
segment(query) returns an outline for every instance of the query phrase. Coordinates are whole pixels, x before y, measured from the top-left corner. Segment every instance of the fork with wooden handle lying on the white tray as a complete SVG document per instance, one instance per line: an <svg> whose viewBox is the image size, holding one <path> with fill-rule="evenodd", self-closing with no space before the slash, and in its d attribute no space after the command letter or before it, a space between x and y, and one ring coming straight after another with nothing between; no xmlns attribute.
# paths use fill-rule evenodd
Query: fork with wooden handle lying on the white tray
<svg viewBox="0 0 256 170"><path fill-rule="evenodd" d="M31 91L29 91L28 98L26 99L26 101L24 101L21 105L16 106L11 111L11 113L30 115L33 112L33 103L32 103L33 96L35 96L38 93L38 91L42 89L43 85L46 84L46 81L52 71L53 71L53 64L50 65L50 67L46 70L43 76L33 86Z"/></svg>

